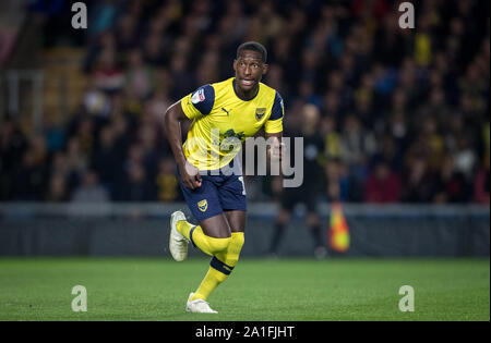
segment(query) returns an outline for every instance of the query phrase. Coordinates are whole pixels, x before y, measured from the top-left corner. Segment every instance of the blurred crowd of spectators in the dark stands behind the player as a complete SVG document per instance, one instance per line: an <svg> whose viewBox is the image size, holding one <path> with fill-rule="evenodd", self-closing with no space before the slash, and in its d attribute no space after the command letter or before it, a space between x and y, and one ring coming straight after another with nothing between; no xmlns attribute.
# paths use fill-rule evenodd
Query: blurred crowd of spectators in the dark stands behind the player
<svg viewBox="0 0 491 343"><path fill-rule="evenodd" d="M26 136L2 120L0 200L181 200L163 114L232 76L237 47L256 40L285 135L322 143L306 146L320 198L489 203L488 1L415 1L415 29L391 0L85 2L88 29L70 44L91 85L64 125ZM49 40L70 32L49 23ZM280 197L277 184L249 177L249 196Z"/></svg>

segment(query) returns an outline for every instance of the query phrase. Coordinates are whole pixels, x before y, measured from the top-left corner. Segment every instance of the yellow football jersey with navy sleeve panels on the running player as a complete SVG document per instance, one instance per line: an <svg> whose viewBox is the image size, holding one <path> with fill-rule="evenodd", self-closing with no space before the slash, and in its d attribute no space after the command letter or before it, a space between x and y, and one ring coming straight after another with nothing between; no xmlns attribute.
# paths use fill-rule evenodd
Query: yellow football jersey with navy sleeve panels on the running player
<svg viewBox="0 0 491 343"><path fill-rule="evenodd" d="M200 170L228 166L241 144L262 126L266 133L283 132L283 99L263 83L250 100L239 98L235 77L205 85L182 98L181 107L193 120L182 145L184 156Z"/></svg>

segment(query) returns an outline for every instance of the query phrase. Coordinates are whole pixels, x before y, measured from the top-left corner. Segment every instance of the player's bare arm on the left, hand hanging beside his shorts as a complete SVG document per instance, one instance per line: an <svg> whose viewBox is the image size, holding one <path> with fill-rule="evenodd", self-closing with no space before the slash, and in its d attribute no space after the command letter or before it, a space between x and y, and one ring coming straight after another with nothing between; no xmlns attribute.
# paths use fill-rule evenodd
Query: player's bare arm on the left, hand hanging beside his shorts
<svg viewBox="0 0 491 343"><path fill-rule="evenodd" d="M195 189L201 186L202 180L197 169L187 163L184 151L182 150L181 121L184 120L189 121L189 118L182 111L181 101L178 101L167 109L164 115L164 128L183 184L190 189Z"/></svg>

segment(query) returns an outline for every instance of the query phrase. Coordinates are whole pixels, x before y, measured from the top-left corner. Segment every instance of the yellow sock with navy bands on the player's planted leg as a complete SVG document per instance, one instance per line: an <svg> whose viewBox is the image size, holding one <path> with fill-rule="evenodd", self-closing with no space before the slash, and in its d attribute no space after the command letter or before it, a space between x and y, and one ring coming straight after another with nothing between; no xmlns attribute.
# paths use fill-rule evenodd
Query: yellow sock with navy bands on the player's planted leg
<svg viewBox="0 0 491 343"><path fill-rule="evenodd" d="M194 237L194 234L193 234ZM232 232L226 250L217 253L211 261L208 272L204 277L191 301L205 299L227 279L239 260L240 250L244 243L243 232Z"/></svg>

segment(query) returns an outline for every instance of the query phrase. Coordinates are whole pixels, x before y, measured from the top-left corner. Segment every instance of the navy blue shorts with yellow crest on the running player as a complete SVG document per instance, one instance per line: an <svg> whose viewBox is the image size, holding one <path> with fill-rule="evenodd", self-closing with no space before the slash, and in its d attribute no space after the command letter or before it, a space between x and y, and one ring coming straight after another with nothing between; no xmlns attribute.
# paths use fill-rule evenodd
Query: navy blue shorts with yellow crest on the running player
<svg viewBox="0 0 491 343"><path fill-rule="evenodd" d="M179 186L191 213L202 221L229 210L247 211L243 176L201 175L201 187L190 189L182 183L178 171Z"/></svg>

